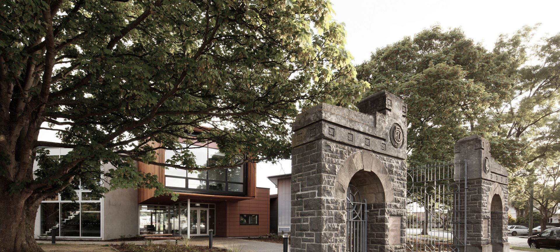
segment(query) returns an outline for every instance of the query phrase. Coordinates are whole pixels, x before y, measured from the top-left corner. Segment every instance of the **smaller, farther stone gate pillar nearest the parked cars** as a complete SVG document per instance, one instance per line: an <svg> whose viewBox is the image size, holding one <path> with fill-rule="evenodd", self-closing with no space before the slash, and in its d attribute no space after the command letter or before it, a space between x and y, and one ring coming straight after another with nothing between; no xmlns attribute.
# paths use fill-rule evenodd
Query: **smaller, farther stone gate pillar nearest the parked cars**
<svg viewBox="0 0 560 252"><path fill-rule="evenodd" d="M507 242L507 170L494 161L488 140L469 136L455 144L455 180L466 179L466 252L509 251ZM466 172L465 172L466 167ZM465 189L463 189L465 190ZM461 216L462 218L463 216ZM464 241L464 226L455 238Z"/></svg>

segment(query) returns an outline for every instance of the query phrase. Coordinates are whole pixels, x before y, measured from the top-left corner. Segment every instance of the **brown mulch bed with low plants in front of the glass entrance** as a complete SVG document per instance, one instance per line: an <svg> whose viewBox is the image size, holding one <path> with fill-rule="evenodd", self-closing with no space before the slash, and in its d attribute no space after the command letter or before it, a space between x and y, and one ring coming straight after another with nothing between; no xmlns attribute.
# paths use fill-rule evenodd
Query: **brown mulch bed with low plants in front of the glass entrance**
<svg viewBox="0 0 560 252"><path fill-rule="evenodd" d="M137 244L113 244L110 245L119 252L226 252L225 249L212 248L208 246L184 246L175 244L152 244L152 245L137 245Z"/></svg>

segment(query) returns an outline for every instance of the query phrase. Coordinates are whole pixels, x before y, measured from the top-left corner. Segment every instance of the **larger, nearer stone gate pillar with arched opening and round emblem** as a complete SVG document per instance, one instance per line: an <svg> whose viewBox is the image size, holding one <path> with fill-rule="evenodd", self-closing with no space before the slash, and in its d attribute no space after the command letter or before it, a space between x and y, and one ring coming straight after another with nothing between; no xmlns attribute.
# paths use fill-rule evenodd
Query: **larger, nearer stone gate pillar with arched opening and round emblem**
<svg viewBox="0 0 560 252"><path fill-rule="evenodd" d="M383 91L357 107L321 103L293 123L292 252L346 251L351 183L368 201L367 251L404 252L407 106Z"/></svg>

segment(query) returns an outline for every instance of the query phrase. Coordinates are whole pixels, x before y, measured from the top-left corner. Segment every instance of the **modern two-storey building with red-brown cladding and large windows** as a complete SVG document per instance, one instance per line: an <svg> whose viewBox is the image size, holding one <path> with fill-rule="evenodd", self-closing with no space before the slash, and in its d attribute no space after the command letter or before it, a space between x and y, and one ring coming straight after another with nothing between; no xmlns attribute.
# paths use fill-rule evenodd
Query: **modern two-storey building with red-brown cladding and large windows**
<svg viewBox="0 0 560 252"><path fill-rule="evenodd" d="M53 156L71 150L46 149ZM158 162L165 162L172 154L158 150ZM195 148L193 154L200 165L222 155L216 144ZM51 236L52 227L57 227L54 232L58 237L100 240L149 233L206 236L209 229L227 237L259 236L270 231L270 189L256 187L254 163L195 172L141 162L137 166L139 171L157 175L160 182L179 194L179 200L171 200L170 195L154 197L154 190L146 188L118 189L94 198L91 190L77 181L76 199L58 195L41 203L35 236ZM109 168L113 166L103 167Z"/></svg>

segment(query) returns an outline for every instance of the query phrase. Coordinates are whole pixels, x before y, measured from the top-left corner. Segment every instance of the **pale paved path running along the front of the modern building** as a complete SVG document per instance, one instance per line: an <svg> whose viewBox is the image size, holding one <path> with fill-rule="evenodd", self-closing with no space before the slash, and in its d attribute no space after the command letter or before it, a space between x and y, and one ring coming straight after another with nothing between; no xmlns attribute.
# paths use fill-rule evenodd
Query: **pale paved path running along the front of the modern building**
<svg viewBox="0 0 560 252"><path fill-rule="evenodd" d="M154 243L164 243L166 240L156 240ZM37 241L38 243L50 243L50 241ZM180 243L181 241L179 241ZM57 241L60 244L120 244L120 241ZM127 241L127 243L143 244L143 241ZM190 244L208 246L208 237L194 237ZM213 245L218 248L230 249L232 246L242 247L242 252L282 252L282 244L251 241L237 238L214 237Z"/></svg>

